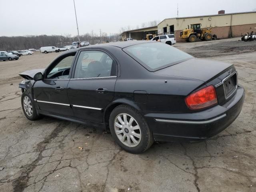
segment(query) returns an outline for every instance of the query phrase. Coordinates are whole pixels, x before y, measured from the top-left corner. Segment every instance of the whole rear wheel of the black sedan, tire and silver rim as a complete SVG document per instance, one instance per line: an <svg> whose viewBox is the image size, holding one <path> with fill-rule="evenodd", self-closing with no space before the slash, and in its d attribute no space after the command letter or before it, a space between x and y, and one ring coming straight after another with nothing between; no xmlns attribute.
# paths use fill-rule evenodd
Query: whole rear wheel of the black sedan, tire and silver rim
<svg viewBox="0 0 256 192"><path fill-rule="evenodd" d="M154 142L146 120L130 106L120 105L114 108L109 124L116 143L130 153L142 153Z"/></svg>

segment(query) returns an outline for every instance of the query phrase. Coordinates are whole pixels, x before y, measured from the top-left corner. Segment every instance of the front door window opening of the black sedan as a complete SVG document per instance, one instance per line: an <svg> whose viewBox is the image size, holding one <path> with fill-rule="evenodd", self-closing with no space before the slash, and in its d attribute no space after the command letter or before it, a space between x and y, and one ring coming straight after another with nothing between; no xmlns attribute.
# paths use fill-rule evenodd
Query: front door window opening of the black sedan
<svg viewBox="0 0 256 192"><path fill-rule="evenodd" d="M68 54L57 61L49 68L46 74L47 79L68 79L70 68L76 52ZM50 71L50 72L49 72Z"/></svg>

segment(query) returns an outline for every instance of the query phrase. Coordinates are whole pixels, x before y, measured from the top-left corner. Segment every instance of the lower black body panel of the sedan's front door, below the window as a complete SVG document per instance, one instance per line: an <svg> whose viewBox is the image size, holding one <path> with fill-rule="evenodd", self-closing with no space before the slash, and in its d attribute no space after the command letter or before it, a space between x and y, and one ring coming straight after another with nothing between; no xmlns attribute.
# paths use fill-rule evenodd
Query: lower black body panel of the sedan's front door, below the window
<svg viewBox="0 0 256 192"><path fill-rule="evenodd" d="M34 99L41 110L73 116L67 96L67 80L42 80L34 84Z"/></svg>

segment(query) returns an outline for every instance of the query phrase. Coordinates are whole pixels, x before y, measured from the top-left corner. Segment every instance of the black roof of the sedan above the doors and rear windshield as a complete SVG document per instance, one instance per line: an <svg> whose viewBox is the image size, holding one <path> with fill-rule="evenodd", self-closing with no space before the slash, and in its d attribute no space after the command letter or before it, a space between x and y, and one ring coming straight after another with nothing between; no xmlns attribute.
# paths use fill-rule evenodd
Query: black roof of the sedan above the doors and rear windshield
<svg viewBox="0 0 256 192"><path fill-rule="evenodd" d="M125 48L128 46L132 46L132 45L137 45L137 44L143 44L143 43L155 43L152 41L146 41L146 40L140 40L140 41L118 41L118 42L110 42L110 43L102 43L102 44L96 44L96 45L90 45L87 47L81 47L79 49L87 49L90 47L93 48L106 48L108 46L115 46L115 47L119 47L119 48Z"/></svg>

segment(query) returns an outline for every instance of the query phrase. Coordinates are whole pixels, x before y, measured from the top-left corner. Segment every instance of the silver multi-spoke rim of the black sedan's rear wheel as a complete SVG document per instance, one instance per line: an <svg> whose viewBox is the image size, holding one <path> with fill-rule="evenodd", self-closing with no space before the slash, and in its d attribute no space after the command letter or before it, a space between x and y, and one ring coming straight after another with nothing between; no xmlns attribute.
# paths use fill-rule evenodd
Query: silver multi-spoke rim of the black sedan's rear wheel
<svg viewBox="0 0 256 192"><path fill-rule="evenodd" d="M129 114L121 113L114 121L116 136L122 144L136 147L141 141L141 130L138 122Z"/></svg>

